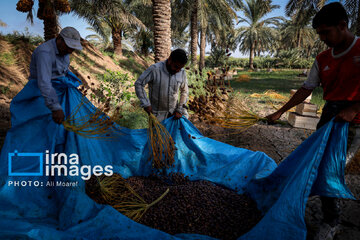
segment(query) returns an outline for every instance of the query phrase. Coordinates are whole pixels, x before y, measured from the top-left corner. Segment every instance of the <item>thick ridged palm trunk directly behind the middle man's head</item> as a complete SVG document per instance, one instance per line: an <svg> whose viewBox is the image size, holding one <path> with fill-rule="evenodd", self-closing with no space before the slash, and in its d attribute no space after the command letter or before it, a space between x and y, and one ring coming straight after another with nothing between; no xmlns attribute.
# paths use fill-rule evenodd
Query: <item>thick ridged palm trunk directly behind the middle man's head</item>
<svg viewBox="0 0 360 240"><path fill-rule="evenodd" d="M152 0L154 21L155 62L163 61L171 50L170 0Z"/></svg>

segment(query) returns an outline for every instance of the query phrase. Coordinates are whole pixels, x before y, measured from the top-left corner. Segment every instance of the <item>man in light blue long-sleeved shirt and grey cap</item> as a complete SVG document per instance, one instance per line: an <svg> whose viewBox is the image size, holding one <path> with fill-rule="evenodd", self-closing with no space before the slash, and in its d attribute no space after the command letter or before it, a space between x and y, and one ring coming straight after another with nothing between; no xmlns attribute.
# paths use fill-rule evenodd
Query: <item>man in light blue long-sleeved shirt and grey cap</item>
<svg viewBox="0 0 360 240"><path fill-rule="evenodd" d="M59 36L37 47L31 56L29 79L37 80L45 104L58 124L64 121L65 115L51 80L66 75L70 65L69 55L75 49L82 50L80 34L75 28L66 27Z"/></svg>

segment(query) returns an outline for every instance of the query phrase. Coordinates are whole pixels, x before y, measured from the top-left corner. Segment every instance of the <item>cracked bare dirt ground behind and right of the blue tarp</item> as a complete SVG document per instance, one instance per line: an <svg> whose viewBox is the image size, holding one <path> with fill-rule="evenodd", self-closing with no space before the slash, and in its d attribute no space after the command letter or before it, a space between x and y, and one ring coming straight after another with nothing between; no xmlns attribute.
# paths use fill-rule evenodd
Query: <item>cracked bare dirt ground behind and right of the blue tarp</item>
<svg viewBox="0 0 360 240"><path fill-rule="evenodd" d="M293 128L282 125L257 124L240 132L239 130L223 129L199 123L194 120L195 126L205 135L215 140L231 144L236 147L266 153L277 163L286 158L297 148L313 131ZM359 174L345 176L347 186L356 199L360 198ZM360 201L340 200L341 224L340 232L335 240L360 239ZM305 221L308 227L308 240L313 239L322 220L321 202L319 197L310 197L306 207Z"/></svg>

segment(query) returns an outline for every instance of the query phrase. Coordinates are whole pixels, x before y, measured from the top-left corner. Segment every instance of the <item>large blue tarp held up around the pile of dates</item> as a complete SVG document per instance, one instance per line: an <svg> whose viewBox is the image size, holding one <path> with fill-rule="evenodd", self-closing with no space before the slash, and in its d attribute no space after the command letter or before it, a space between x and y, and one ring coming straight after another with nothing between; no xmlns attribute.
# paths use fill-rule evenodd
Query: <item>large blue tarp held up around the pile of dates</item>
<svg viewBox="0 0 360 240"><path fill-rule="evenodd" d="M80 80L69 73L53 81L65 115L82 99ZM147 130L115 125L112 141L84 138L52 121L36 80L30 80L11 103L12 128L1 151L0 238L6 239L212 239L196 234L171 236L138 224L85 193L81 176L9 176L9 170L32 173L39 161L9 154L62 152L79 156L78 167L111 165L127 178L148 175ZM96 110L84 105L78 113ZM329 122L303 142L279 166L262 152L236 148L206 138L185 118L163 122L176 144L175 166L192 180L206 179L248 193L264 217L239 239L306 239L305 206L309 195L352 198L344 183L347 123ZM11 155L13 156L13 155ZM11 161L11 169L9 163ZM30 174L31 175L31 174ZM43 174L44 175L44 174ZM14 186L15 182L20 186ZM51 181L77 187L49 187ZM26 186L21 183L27 182ZM29 183L40 186L29 186ZM43 185L41 185L41 183ZM169 193L171 194L171 193Z"/></svg>

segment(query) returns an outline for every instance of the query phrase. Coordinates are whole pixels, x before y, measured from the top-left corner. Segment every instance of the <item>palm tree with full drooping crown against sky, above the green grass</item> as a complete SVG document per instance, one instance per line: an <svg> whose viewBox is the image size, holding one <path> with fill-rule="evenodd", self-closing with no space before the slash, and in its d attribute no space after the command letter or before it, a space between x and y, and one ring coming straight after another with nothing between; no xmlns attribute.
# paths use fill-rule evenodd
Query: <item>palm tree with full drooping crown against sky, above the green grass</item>
<svg viewBox="0 0 360 240"><path fill-rule="evenodd" d="M239 28L239 50L250 53L249 67L254 68L254 55L259 51L273 51L278 40L278 31L272 26L277 26L284 19L282 17L265 18L272 10L279 8L271 0L245 0L241 11L244 17L238 17L239 23L247 26Z"/></svg>

